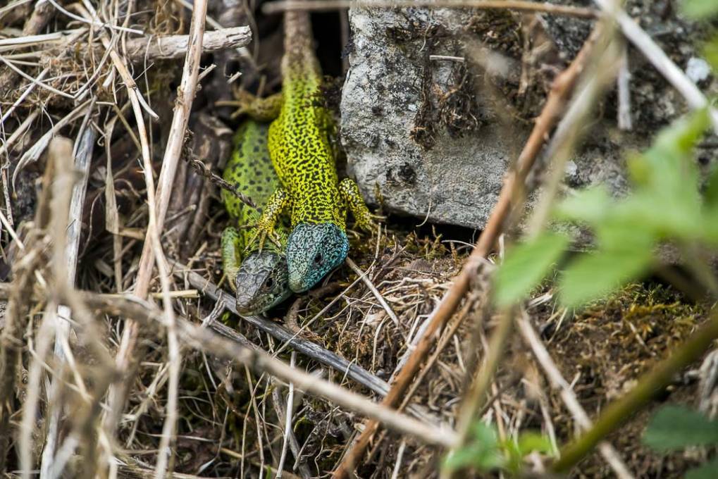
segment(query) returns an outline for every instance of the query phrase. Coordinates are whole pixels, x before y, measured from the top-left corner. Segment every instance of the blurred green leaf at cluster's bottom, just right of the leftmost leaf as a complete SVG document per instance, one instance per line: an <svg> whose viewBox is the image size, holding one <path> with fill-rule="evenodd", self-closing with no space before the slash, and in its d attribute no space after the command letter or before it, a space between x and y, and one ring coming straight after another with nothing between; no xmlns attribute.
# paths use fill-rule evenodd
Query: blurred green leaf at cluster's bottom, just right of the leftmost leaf
<svg viewBox="0 0 718 479"><path fill-rule="evenodd" d="M600 250L573 261L559 279L559 297L567 307L578 307L626 282L638 278L653 261L652 248Z"/></svg>

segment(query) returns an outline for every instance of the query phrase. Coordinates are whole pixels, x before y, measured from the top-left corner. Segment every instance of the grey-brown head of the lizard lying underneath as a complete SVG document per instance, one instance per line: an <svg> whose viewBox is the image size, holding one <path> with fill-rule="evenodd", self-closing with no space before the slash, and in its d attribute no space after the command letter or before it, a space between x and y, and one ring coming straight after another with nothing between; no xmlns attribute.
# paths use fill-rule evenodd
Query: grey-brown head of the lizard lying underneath
<svg viewBox="0 0 718 479"><path fill-rule="evenodd" d="M237 312L258 315L284 301L289 289L286 257L274 251L255 251L235 276Z"/></svg>

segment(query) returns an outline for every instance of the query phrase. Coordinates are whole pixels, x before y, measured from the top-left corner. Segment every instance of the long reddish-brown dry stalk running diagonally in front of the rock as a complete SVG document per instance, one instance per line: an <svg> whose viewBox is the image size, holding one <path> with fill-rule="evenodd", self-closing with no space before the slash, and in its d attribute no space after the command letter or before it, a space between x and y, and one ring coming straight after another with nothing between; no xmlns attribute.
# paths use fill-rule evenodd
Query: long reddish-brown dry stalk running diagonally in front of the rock
<svg viewBox="0 0 718 479"><path fill-rule="evenodd" d="M491 212L484 231L482 231L479 237L476 247L464 264L459 276L454 279L454 283L447 294L444 295L437 308L426 321L427 326L426 330L424 330L424 335L422 335L419 343L416 344L416 348L409 356L404 368L402 368L401 372L396 376L396 380L393 381L391 385L391 390L382 402L385 406L396 407L401 399L403 399L406 390L409 389L411 382L414 381L414 376L416 376L417 371L421 368L424 358L429 354L437 331L444 327L449 319L451 319L464 294L468 291L470 282L476 275L477 267L482 264L482 261L485 261L485 257L488 256L498 237L503 232L505 220L512 210L518 206L513 204L514 198L523 188L526 176L528 172L531 171L531 167L533 167L538 153L541 152L544 141L564 111L564 105L571 95L580 73L584 70L584 66L599 35L600 27L597 25L571 65L554 80L541 115L536 118L536 124L533 126L531 135L528 137L526 145L518 157L516 167L508 172L504 180L498 201ZM373 437L377 429L378 424L376 422L370 422L366 425L357 442L355 442L352 449L344 456L342 462L335 470L335 479L348 477L350 468L353 467L350 465L358 465L371 437Z"/></svg>

